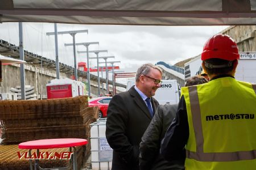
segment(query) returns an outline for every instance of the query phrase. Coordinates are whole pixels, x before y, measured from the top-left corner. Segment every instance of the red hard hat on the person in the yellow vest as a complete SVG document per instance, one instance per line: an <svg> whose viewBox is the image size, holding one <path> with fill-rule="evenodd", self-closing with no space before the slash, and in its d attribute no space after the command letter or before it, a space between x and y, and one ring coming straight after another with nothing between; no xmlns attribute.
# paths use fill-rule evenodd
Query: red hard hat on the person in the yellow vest
<svg viewBox="0 0 256 170"><path fill-rule="evenodd" d="M228 61L238 59L236 42L228 35L217 34L210 38L204 45L201 59L220 58Z"/></svg>

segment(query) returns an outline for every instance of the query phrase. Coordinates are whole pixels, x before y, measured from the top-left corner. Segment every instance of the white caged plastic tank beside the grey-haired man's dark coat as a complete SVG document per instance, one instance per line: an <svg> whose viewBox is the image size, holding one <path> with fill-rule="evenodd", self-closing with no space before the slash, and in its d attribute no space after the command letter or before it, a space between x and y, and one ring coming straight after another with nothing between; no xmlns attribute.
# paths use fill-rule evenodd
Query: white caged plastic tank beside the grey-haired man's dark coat
<svg viewBox="0 0 256 170"><path fill-rule="evenodd" d="M106 140L106 118L90 124L90 145L93 170L110 170L112 168L113 150Z"/></svg>

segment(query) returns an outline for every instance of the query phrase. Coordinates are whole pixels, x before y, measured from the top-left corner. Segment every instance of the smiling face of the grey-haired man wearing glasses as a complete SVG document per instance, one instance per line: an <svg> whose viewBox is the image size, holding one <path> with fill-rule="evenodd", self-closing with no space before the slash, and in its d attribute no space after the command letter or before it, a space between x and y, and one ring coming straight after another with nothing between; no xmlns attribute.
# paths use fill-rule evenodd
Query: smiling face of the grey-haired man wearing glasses
<svg viewBox="0 0 256 170"><path fill-rule="evenodd" d="M160 87L160 83L155 83L156 80L162 80L162 74L157 69L150 69L147 75L141 75L142 92L148 96L154 96L155 91Z"/></svg>

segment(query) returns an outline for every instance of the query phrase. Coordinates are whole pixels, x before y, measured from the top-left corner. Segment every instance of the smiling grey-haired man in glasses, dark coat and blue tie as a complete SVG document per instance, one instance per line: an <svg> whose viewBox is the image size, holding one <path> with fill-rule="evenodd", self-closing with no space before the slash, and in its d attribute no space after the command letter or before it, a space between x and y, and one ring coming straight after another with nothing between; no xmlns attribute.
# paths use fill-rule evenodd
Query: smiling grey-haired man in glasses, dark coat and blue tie
<svg viewBox="0 0 256 170"><path fill-rule="evenodd" d="M135 86L109 103L106 138L113 148L112 170L139 169L139 143L159 105L152 97L162 79L159 67L144 64L135 79Z"/></svg>

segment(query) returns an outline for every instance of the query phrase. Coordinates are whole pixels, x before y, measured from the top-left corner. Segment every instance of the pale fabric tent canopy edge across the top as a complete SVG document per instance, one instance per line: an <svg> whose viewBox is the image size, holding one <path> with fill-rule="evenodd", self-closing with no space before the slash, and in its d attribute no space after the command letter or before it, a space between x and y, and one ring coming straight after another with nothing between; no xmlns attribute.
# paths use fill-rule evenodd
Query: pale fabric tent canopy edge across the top
<svg viewBox="0 0 256 170"><path fill-rule="evenodd" d="M1 0L0 22L254 25L255 0Z"/></svg>

